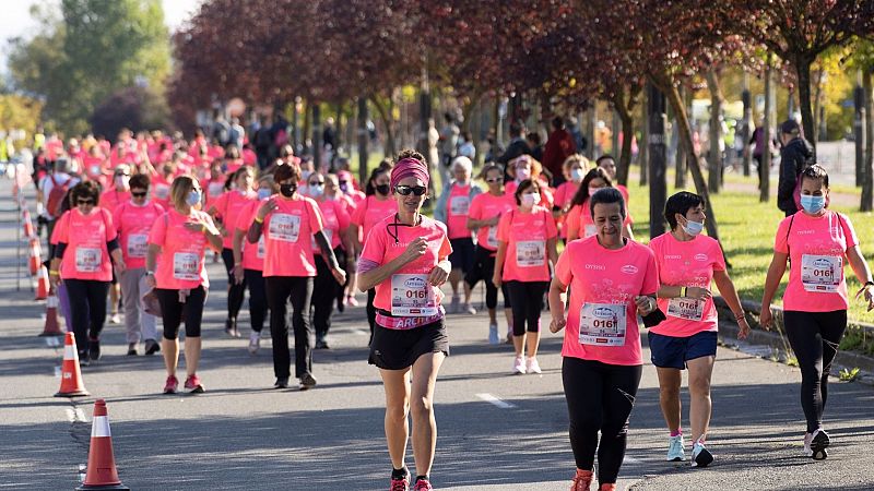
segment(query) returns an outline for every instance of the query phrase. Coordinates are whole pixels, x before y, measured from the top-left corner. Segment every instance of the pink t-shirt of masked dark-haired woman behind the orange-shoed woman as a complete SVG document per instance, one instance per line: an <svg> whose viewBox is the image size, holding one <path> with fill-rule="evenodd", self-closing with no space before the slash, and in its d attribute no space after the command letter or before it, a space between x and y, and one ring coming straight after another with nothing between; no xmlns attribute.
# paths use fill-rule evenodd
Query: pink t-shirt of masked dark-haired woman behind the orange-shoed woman
<svg viewBox="0 0 874 491"><path fill-rule="evenodd" d="M534 206L530 213L511 209L498 221L498 240L507 244L504 282L548 282L546 241L558 235L548 209Z"/></svg>

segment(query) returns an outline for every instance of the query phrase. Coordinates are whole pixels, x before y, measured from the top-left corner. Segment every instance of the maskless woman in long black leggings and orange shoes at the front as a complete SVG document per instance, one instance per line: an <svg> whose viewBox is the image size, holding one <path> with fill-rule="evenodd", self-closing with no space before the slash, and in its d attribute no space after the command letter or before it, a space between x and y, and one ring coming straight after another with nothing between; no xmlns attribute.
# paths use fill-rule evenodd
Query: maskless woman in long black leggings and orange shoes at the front
<svg viewBox="0 0 874 491"><path fill-rule="evenodd" d="M611 188L598 191L591 196L591 214L598 233L568 242L550 287L550 331L567 327L562 381L577 464L572 491L589 490L595 451L599 489L616 489L642 373L637 315L645 316L648 326L663 319L656 302L654 254L622 236L622 194ZM562 294L568 286L570 308L565 319Z"/></svg>

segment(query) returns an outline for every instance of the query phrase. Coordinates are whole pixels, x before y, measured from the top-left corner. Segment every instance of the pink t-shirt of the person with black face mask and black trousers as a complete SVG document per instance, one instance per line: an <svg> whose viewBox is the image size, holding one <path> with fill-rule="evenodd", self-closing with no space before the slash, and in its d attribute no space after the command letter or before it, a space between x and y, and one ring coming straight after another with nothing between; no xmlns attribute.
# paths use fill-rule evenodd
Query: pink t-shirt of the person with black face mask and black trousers
<svg viewBox="0 0 874 491"><path fill-rule="evenodd" d="M285 200L264 218L264 276L316 276L312 233L322 229L319 205L310 197Z"/></svg>

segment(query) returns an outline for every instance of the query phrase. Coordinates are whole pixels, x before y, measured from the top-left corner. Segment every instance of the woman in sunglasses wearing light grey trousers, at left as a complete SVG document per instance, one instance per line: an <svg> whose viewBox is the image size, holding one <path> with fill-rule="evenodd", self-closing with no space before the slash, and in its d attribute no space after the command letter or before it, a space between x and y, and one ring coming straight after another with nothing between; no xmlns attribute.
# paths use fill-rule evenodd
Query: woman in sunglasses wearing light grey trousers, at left
<svg viewBox="0 0 874 491"><path fill-rule="evenodd" d="M118 230L119 246L127 271L119 275L125 302L125 327L128 332L128 355L137 355L137 346L145 338L145 354L161 350L157 342L157 320L140 307L140 298L149 290L145 285L145 256L149 233L164 215L164 208L149 200L149 176L138 173L130 178L131 199L116 207L113 223Z"/></svg>

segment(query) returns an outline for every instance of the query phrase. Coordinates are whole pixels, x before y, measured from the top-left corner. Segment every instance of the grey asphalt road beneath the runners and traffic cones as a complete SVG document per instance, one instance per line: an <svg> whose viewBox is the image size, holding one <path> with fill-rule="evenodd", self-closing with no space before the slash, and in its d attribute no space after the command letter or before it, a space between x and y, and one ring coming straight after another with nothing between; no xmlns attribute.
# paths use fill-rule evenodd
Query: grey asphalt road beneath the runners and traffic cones
<svg viewBox="0 0 874 491"><path fill-rule="evenodd" d="M9 196L9 189L7 181L0 182L0 196ZM383 393L377 370L366 362L364 309L339 315L332 349L316 351L318 387L275 391L269 340L250 356L245 337L224 335L220 264L210 265L213 287L199 371L205 394L162 395L162 359L127 357L123 327L107 325L103 360L83 368L93 396L52 397L62 354L36 336L43 325L42 302L32 300L27 285L24 291L14 289L17 225L11 203L0 199L0 489L74 488L79 466L87 460L96 397L107 400L118 471L131 489L387 488ZM244 308L240 325L247 324ZM574 459L560 380L560 337L544 336L542 375L513 376L511 349L485 342L484 315L452 315L448 326L451 357L436 394L435 487L567 489ZM649 359L648 350L643 356ZM709 438L716 462L707 469L692 469L663 460L668 434L656 371L647 363L621 486L874 489L874 388L832 381L826 428L835 444L828 460L815 463L801 456L799 381L796 369L721 349ZM412 469L412 453L408 455Z"/></svg>

